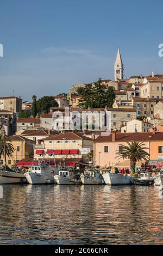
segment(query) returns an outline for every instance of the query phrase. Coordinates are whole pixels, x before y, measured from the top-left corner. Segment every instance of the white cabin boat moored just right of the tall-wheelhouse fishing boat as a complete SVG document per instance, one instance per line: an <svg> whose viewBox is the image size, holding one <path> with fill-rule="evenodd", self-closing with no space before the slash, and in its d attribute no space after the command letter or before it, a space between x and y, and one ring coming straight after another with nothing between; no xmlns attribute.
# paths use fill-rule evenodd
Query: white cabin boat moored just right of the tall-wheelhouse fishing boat
<svg viewBox="0 0 163 256"><path fill-rule="evenodd" d="M59 170L59 175L54 175L54 181L58 185L75 185L80 184L80 175L75 174L71 170Z"/></svg>

